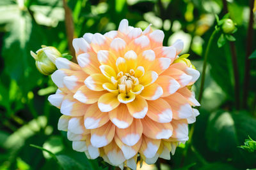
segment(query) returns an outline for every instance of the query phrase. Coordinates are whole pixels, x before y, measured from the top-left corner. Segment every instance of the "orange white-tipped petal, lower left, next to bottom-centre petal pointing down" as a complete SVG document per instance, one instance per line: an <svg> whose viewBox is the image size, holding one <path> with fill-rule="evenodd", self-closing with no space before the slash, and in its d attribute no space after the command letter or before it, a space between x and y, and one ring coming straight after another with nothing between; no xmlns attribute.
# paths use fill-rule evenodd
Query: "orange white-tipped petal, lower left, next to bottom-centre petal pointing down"
<svg viewBox="0 0 256 170"><path fill-rule="evenodd" d="M101 127L92 129L91 131L91 143L92 146L100 148L108 145L115 136L115 125L112 122L108 122Z"/></svg>

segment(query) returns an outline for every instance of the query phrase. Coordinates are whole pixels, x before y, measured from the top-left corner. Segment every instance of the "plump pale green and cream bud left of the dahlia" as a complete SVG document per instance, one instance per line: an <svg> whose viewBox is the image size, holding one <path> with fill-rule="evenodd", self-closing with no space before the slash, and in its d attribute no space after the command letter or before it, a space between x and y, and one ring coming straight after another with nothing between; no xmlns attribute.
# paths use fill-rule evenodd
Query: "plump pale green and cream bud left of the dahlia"
<svg viewBox="0 0 256 170"><path fill-rule="evenodd" d="M57 69L55 60L61 57L61 53L53 46L42 45L42 48L37 50L36 53L32 51L30 53L36 60L36 67L40 73L49 75Z"/></svg>

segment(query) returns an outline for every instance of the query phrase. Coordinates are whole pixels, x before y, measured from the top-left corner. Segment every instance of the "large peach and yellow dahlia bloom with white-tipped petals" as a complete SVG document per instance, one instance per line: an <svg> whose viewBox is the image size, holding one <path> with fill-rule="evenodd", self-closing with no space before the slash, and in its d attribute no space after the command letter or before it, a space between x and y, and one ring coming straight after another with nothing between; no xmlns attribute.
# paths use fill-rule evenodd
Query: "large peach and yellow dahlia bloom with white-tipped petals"
<svg viewBox="0 0 256 170"><path fill-rule="evenodd" d="M175 62L181 40L163 46L163 39L163 31L122 20L118 31L74 39L78 64L56 59L58 90L49 101L60 108L58 129L74 150L136 169L138 156L147 164L170 159L188 140L188 124L199 114L192 106L200 105L189 87L199 72Z"/></svg>

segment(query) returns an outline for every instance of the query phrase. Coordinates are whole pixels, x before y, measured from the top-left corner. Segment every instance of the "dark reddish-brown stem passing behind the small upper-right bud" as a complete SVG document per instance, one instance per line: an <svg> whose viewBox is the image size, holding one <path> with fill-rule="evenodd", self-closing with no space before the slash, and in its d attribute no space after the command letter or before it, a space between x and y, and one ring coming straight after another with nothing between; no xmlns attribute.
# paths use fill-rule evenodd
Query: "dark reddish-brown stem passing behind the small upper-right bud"
<svg viewBox="0 0 256 170"><path fill-rule="evenodd" d="M223 3L223 11L224 13L228 13L228 5L227 0L222 0ZM233 65L233 72L234 72L234 79L235 79L235 85L234 85L234 94L235 94L235 105L236 109L239 110L240 105L240 87L239 87L239 72L238 72L238 66L237 66L237 53L236 53L236 45L234 42L229 41L230 46L230 52L231 52L231 58L232 58L232 65Z"/></svg>

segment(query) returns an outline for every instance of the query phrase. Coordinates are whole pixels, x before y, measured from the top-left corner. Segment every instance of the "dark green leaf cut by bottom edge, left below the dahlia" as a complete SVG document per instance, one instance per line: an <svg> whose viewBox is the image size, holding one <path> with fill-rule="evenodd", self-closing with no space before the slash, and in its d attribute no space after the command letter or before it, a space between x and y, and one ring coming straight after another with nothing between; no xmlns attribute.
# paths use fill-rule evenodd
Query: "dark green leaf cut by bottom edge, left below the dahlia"
<svg viewBox="0 0 256 170"><path fill-rule="evenodd" d="M64 170L82 170L82 169L89 169L89 167L83 167L81 164L76 162L76 160L68 157L67 155L56 155L56 158L60 164L60 166Z"/></svg>

